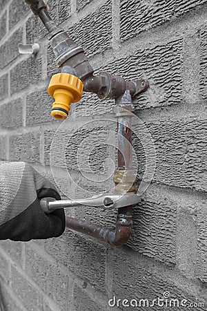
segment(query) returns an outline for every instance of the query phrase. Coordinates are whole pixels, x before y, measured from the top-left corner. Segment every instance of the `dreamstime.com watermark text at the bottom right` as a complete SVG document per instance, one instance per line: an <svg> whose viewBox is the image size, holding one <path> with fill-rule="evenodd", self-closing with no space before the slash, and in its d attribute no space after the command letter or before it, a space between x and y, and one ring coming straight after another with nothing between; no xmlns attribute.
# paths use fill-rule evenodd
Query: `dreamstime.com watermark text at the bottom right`
<svg viewBox="0 0 207 311"><path fill-rule="evenodd" d="M170 292L164 292L163 297L157 297L156 299L117 299L113 296L108 301L108 305L113 307L124 307L124 308L152 308L158 306L160 308L204 308L204 303L192 302L187 299L174 299L171 297Z"/></svg>

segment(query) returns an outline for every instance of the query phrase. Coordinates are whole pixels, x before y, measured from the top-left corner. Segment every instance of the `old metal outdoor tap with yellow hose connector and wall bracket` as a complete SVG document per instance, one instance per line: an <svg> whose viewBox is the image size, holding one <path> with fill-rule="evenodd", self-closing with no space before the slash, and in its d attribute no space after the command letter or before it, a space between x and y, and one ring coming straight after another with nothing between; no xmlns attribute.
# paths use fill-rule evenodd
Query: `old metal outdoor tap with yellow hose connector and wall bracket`
<svg viewBox="0 0 207 311"><path fill-rule="evenodd" d="M78 46L66 31L58 28L52 21L46 3L43 0L25 1L34 15L39 15L46 26L49 32L48 40L55 53L55 62L61 68L61 73L54 75L48 86L48 93L55 98L55 102L52 104L52 117L66 119L70 103L81 100L83 91L95 93L101 100L104 100L120 97L124 95L126 89L130 89L132 97L146 90L147 82L146 86L139 90L139 82L138 84L137 82L126 82L123 77L118 75L109 73L93 75L94 70L83 48Z"/></svg>

